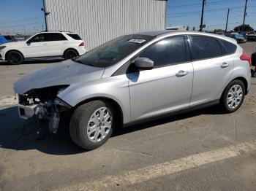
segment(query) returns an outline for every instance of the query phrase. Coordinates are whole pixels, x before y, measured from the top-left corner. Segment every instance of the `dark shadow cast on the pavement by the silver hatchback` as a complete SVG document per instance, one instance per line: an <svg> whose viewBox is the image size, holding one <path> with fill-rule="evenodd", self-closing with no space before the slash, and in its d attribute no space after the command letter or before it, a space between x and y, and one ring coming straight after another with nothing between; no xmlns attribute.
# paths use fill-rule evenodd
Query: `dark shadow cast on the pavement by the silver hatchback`
<svg viewBox="0 0 256 191"><path fill-rule="evenodd" d="M194 112L178 114L163 119L144 122L140 125L133 125L127 128L118 128L114 131L113 137L122 136L127 133L135 132L167 122L175 122L201 114L221 114L217 106L208 109L200 109ZM0 148L14 150L37 149L49 155L75 155L86 152L72 142L69 136L67 122L61 122L56 134L40 133L37 124L33 119L22 120L18 117L16 106L0 110ZM42 130L41 130L42 131Z"/></svg>

